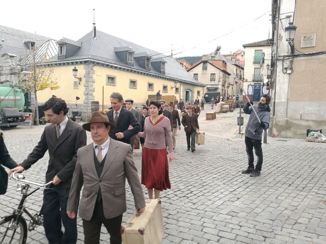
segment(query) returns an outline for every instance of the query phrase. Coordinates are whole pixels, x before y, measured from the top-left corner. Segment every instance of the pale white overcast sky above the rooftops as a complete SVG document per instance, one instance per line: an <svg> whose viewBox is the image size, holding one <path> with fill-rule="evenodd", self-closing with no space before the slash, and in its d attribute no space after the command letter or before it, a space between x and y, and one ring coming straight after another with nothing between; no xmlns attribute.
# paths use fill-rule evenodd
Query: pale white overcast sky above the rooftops
<svg viewBox="0 0 326 244"><path fill-rule="evenodd" d="M271 5L271 0L2 1L0 24L77 41L92 30L95 8L99 31L166 55L173 44L173 57L201 56L217 45L228 54L268 39Z"/></svg>

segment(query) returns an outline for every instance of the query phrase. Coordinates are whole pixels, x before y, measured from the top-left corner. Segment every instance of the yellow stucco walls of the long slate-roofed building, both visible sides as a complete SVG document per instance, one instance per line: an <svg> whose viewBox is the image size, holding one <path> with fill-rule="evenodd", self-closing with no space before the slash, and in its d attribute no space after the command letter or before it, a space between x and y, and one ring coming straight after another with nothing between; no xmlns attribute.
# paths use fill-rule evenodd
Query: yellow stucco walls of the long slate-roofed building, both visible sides
<svg viewBox="0 0 326 244"><path fill-rule="evenodd" d="M79 85L78 89L74 89L73 82L76 81L72 75L72 69L76 67L78 69L78 77L82 77L81 85ZM134 74L130 72L125 72L121 70L110 69L102 66L94 66L93 67L95 74L93 78L95 79L95 83L93 83L94 89L93 96L94 101L99 101L102 104L102 89L104 87L104 104L110 104L110 95L112 92L119 92L123 95L123 98L131 98L135 102L146 102L148 95L156 95L158 90L161 90L161 95L174 95L179 100L179 93L175 93L175 89L171 89L174 87L173 81L158 79L154 77L149 77L145 75ZM54 77L57 77L58 85L60 88L58 90L51 91L50 89L39 91L37 93L38 101L45 102L52 95L56 95L57 97L61 97L66 100L67 103L75 103L76 96L81 99L77 101L78 104L83 103L84 100L84 91L87 90L87 87L84 87L85 83L85 70L84 64L81 65L71 65L71 66L55 66L54 67ZM107 75L116 76L116 86L106 85ZM129 88L129 79L137 80L137 89ZM154 91L147 90L147 83L154 83ZM163 92L163 85L167 85L167 92ZM180 87L178 83L177 87ZM202 91L202 87L199 86L191 86L193 91L197 90ZM202 93L202 92L201 92ZM202 95L202 94L200 94ZM183 94L181 94L181 98Z"/></svg>

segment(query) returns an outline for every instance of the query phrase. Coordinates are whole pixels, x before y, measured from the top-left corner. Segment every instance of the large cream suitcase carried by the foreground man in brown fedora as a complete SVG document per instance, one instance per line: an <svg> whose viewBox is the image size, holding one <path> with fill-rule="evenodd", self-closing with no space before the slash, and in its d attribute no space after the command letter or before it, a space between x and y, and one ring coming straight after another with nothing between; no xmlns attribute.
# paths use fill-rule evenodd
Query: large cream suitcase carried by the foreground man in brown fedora
<svg viewBox="0 0 326 244"><path fill-rule="evenodd" d="M147 199L142 213L135 212L121 227L123 244L159 244L164 234L161 201Z"/></svg>

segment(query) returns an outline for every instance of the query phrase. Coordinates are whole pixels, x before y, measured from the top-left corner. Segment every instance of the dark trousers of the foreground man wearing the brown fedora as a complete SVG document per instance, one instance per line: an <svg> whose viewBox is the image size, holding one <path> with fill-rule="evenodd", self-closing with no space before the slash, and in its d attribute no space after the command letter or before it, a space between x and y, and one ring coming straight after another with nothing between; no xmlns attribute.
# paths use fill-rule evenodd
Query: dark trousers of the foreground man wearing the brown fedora
<svg viewBox="0 0 326 244"><path fill-rule="evenodd" d="M93 216L90 220L82 220L82 226L84 228L84 244L99 244L100 243L100 234L101 226L104 224L108 233L110 234L110 243L111 244L121 244L121 223L122 223L122 214L112 218L106 219L103 212L103 202L95 204Z"/></svg>

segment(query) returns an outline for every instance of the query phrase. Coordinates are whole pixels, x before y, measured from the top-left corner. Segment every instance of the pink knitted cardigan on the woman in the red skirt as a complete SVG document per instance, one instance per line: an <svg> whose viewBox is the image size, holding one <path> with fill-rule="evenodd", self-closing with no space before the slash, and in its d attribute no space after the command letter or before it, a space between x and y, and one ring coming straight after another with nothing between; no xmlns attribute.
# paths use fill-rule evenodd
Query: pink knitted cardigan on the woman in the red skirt
<svg viewBox="0 0 326 244"><path fill-rule="evenodd" d="M163 116L163 119L153 126L150 117L145 118L144 132L138 132L137 136L146 138L144 147L149 149L164 149L164 134L168 141L169 151L173 152L170 119Z"/></svg>

